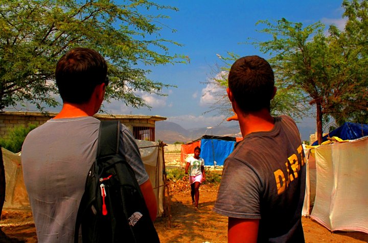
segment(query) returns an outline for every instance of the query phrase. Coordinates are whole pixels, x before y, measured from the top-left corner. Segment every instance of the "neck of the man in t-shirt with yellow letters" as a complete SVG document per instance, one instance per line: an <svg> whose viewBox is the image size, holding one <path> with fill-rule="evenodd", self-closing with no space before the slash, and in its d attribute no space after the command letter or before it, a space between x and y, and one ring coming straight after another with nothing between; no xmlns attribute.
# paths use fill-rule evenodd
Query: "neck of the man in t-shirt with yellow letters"
<svg viewBox="0 0 368 243"><path fill-rule="evenodd" d="M258 112L238 113L240 131L243 138L256 131L270 131L274 127L274 118L267 109Z"/></svg>

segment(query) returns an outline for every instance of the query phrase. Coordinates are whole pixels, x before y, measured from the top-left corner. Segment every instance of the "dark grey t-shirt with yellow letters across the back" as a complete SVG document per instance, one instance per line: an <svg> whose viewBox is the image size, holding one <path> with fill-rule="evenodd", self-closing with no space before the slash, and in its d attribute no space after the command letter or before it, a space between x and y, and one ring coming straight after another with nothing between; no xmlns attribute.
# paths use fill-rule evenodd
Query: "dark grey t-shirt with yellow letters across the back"
<svg viewBox="0 0 368 243"><path fill-rule="evenodd" d="M304 242L305 167L294 121L276 117L271 131L245 136L226 159L213 210L260 219L259 242Z"/></svg>

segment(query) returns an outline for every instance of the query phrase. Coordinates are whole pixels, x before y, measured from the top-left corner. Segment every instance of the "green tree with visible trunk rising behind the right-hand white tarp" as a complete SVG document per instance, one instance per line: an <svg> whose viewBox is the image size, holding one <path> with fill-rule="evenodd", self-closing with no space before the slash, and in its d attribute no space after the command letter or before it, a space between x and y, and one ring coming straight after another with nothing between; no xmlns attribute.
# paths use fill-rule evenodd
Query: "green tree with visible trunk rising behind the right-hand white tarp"
<svg viewBox="0 0 368 243"><path fill-rule="evenodd" d="M272 35L272 39L254 44L272 56L269 61L280 80L303 90L315 106L319 144L323 121L333 117L342 122L353 114L366 114L367 71L365 66L360 67L366 64L366 53L357 51L362 43L353 45L349 31L341 33L330 26L330 35L326 36L325 26L319 22L303 28L301 23L285 18L275 24L268 20L258 24L267 26L261 32Z"/></svg>

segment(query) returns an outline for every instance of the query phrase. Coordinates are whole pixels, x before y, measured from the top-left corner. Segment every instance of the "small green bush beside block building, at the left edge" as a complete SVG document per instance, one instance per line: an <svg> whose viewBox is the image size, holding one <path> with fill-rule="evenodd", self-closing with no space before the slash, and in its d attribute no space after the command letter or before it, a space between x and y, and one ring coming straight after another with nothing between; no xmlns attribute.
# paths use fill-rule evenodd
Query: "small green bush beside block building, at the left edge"
<svg viewBox="0 0 368 243"><path fill-rule="evenodd" d="M16 126L9 129L9 135L7 138L0 139L0 145L3 148L8 149L14 153L20 152L21 146L26 139L27 134L35 129L37 125L29 124L28 127Z"/></svg>

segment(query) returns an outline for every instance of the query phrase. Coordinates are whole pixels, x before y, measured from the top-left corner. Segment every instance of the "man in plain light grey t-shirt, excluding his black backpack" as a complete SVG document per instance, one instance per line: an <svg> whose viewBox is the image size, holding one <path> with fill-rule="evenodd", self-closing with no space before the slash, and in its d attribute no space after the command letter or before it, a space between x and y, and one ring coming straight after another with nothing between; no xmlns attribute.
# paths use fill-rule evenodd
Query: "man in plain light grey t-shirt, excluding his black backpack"
<svg viewBox="0 0 368 243"><path fill-rule="evenodd" d="M75 48L60 58L55 74L63 107L30 132L21 159L38 242L73 242L87 174L97 156L100 121L93 115L108 85L107 63L94 50ZM139 148L124 125L119 136L119 153L133 169L153 221L156 198Z"/></svg>

